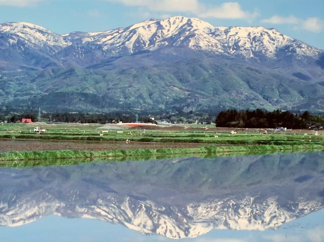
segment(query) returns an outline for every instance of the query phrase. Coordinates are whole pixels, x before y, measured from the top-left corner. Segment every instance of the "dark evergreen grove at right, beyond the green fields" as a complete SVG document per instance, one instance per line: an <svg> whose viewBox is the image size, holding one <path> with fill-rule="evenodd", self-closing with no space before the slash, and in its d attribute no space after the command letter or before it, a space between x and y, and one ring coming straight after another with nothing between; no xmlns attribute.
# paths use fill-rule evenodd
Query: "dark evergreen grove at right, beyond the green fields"
<svg viewBox="0 0 324 242"><path fill-rule="evenodd" d="M324 126L324 116L311 115L308 111L301 114L293 114L289 111L281 110L268 112L261 109L240 111L232 109L218 114L216 126L236 128L320 128Z"/></svg>

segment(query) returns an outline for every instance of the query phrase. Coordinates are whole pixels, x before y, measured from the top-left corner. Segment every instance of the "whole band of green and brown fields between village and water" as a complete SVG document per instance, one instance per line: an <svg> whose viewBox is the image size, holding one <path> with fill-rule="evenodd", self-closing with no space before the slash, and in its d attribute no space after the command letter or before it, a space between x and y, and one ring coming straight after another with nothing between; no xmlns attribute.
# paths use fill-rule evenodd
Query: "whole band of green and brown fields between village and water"
<svg viewBox="0 0 324 242"><path fill-rule="evenodd" d="M46 132L36 134L36 126ZM1 123L0 162L324 150L323 131L317 135L312 130L264 133L265 129L214 125L164 124L135 129L100 124Z"/></svg>

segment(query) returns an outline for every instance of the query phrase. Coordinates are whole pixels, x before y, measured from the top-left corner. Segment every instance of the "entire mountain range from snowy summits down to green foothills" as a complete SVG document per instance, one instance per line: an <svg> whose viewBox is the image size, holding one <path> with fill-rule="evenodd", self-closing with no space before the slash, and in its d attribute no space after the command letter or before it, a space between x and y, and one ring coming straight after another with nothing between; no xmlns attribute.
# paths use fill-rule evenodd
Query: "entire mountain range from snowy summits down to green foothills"
<svg viewBox="0 0 324 242"><path fill-rule="evenodd" d="M324 111L324 52L275 29L181 16L63 35L3 23L0 50L3 108Z"/></svg>

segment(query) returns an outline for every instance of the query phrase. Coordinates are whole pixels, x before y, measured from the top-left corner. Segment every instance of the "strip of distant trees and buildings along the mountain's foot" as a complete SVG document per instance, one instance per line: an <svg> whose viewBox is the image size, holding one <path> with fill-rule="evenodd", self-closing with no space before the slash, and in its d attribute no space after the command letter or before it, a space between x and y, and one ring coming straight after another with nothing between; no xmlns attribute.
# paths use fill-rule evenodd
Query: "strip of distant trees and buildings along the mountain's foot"
<svg viewBox="0 0 324 242"><path fill-rule="evenodd" d="M324 115L313 115L308 111L299 114L289 111L275 110L272 112L256 110L226 110L217 115L206 113L173 113L173 114L146 114L137 113L7 113L0 114L0 123L170 123L170 124L214 124L216 127L232 128L272 128L272 129L312 129L323 130Z"/></svg>

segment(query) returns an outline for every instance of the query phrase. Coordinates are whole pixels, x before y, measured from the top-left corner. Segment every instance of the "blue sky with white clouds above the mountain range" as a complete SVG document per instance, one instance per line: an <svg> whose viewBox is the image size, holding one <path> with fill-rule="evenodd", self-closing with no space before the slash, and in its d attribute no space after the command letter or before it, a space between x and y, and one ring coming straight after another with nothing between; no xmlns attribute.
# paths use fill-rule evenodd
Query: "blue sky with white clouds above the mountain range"
<svg viewBox="0 0 324 242"><path fill-rule="evenodd" d="M324 0L0 0L0 22L56 33L126 27L148 18L198 17L214 26L264 26L324 49Z"/></svg>

